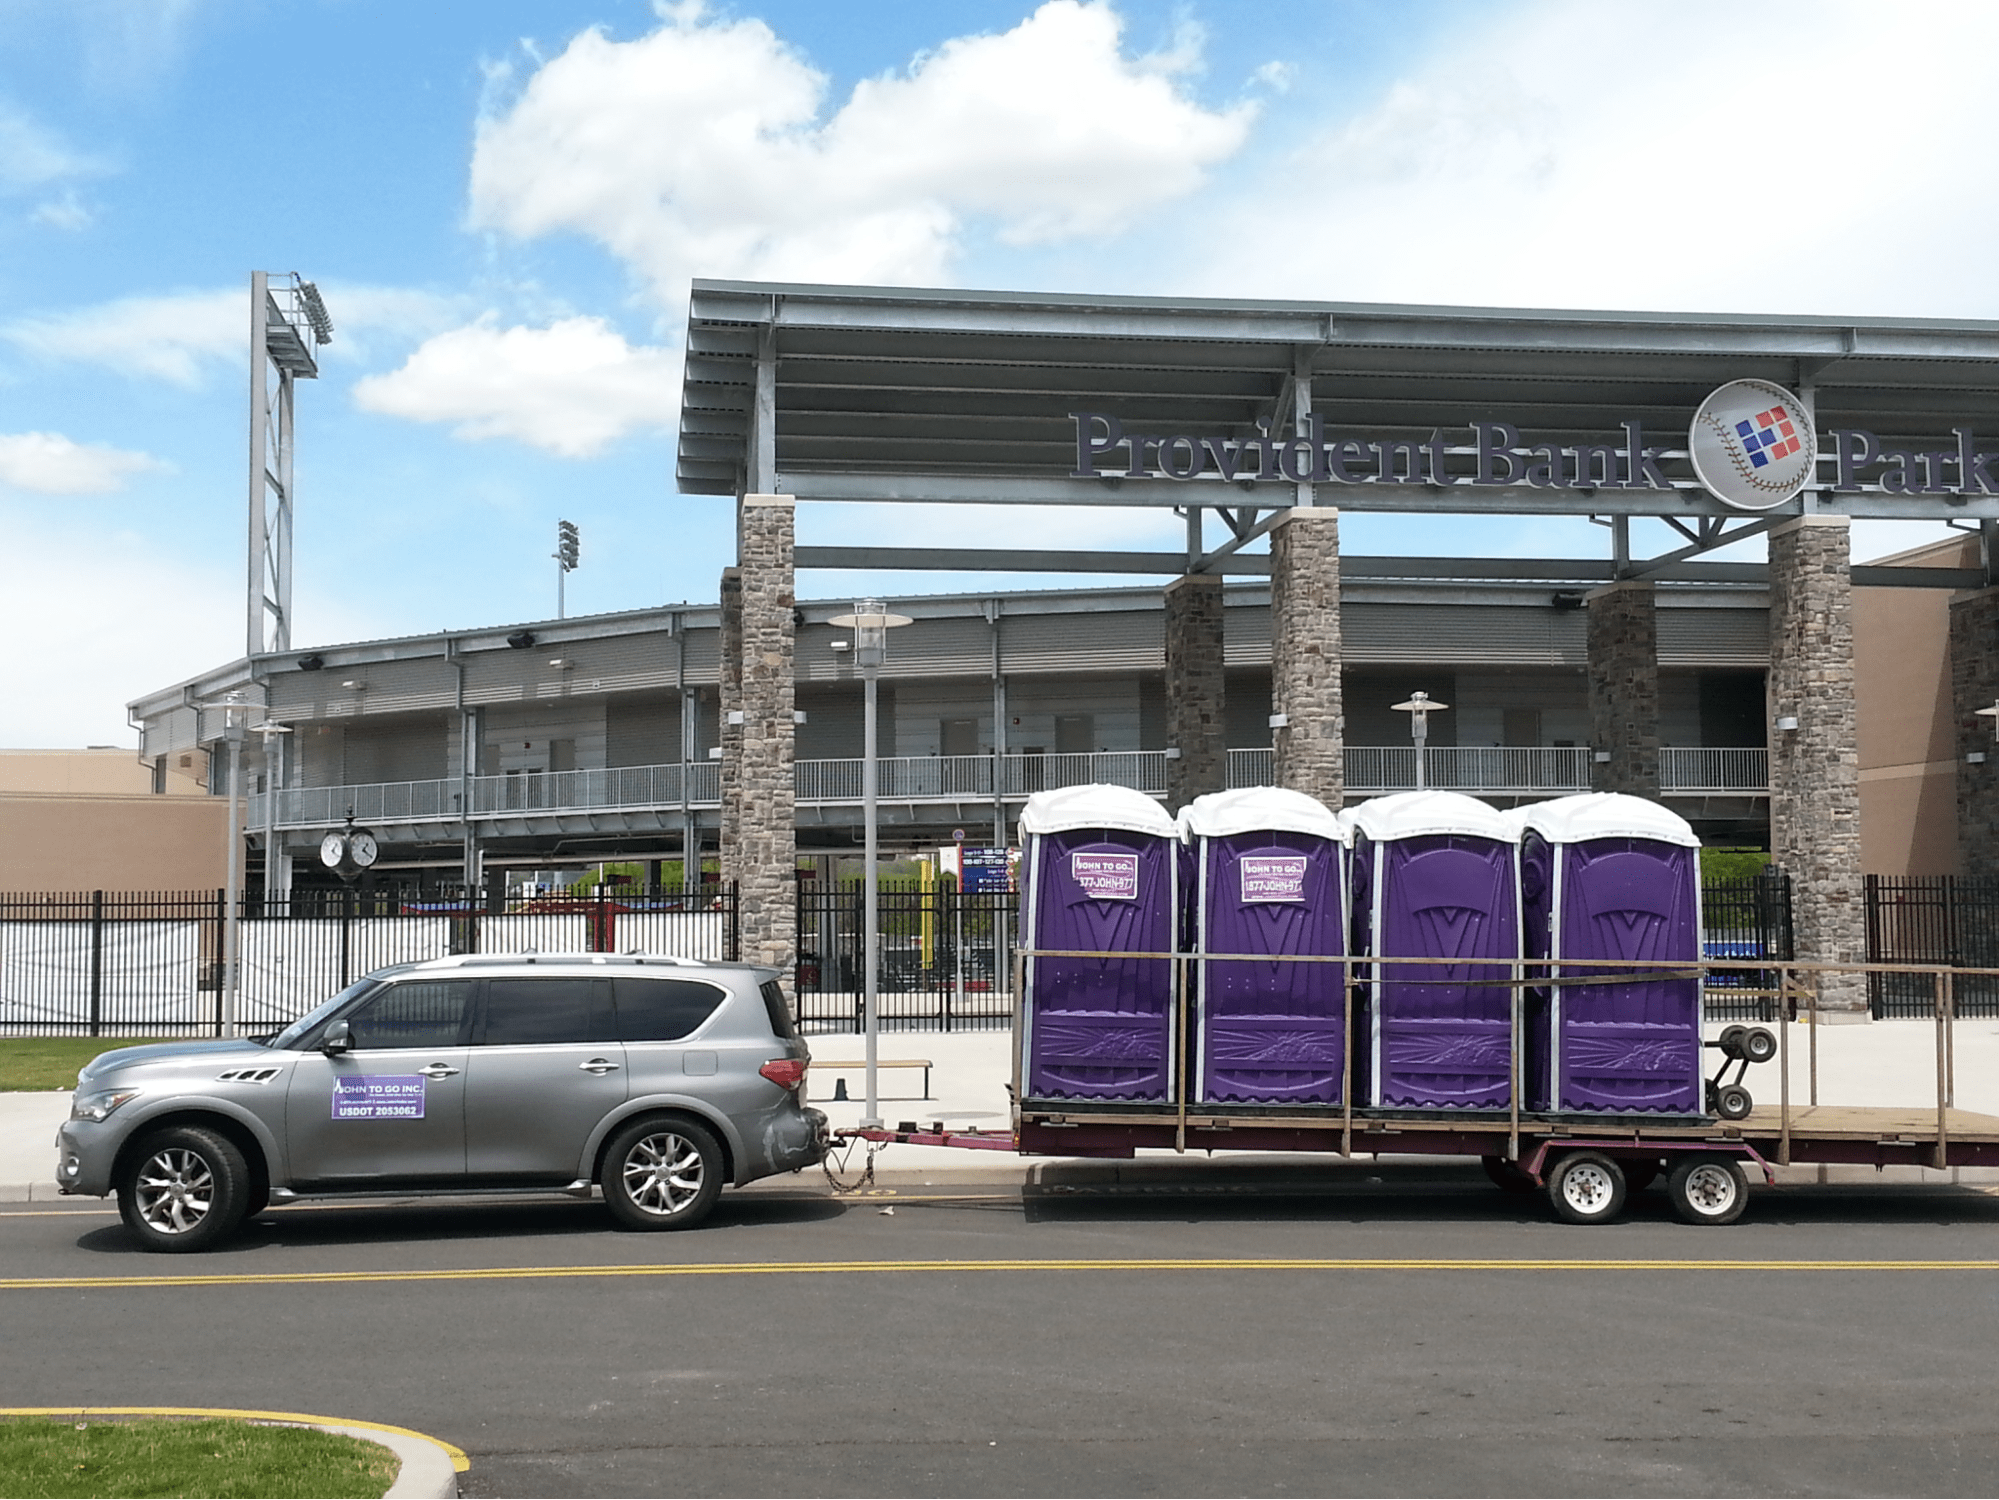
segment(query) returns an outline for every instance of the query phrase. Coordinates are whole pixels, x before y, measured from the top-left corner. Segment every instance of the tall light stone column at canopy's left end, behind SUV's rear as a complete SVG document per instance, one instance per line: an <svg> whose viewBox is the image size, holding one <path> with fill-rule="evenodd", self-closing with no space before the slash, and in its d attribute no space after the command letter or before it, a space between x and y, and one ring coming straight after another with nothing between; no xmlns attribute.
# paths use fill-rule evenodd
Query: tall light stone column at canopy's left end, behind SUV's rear
<svg viewBox="0 0 1999 1500"><path fill-rule="evenodd" d="M780 970L784 992L792 994L798 962L792 496L746 494L740 546L744 722L736 740L736 882L742 892L742 958Z"/></svg>

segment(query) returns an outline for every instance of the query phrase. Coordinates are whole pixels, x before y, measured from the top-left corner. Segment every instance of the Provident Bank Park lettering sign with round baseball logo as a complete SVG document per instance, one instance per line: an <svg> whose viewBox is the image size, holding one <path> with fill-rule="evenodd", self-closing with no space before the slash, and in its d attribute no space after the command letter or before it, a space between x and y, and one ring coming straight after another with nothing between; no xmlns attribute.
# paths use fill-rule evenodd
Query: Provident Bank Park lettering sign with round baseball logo
<svg viewBox="0 0 1999 1500"><path fill-rule="evenodd" d="M1695 484L1737 510L1771 510L1807 484L1833 492L1901 496L1999 496L1993 464L1971 428L1937 448L1897 448L1873 432L1827 432L1831 484L1819 478L1819 440L1803 404L1767 380L1731 380L1701 402L1685 442L1655 442L1621 422L1603 442L1535 442L1511 422L1433 428L1427 438L1337 432L1311 416L1293 436L1137 432L1111 412L1069 412L1071 478L1289 484L1405 484L1425 488L1687 490ZM1691 480L1667 474L1685 462Z"/></svg>

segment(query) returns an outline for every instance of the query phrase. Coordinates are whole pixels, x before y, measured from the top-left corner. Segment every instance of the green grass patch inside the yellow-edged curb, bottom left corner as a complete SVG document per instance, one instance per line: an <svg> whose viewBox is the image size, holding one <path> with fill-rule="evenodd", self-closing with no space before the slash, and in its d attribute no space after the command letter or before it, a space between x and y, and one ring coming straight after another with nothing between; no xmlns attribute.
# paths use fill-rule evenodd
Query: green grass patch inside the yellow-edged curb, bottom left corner
<svg viewBox="0 0 1999 1500"><path fill-rule="evenodd" d="M170 1416L0 1420L0 1484L20 1500L380 1500L396 1454L312 1428Z"/></svg>

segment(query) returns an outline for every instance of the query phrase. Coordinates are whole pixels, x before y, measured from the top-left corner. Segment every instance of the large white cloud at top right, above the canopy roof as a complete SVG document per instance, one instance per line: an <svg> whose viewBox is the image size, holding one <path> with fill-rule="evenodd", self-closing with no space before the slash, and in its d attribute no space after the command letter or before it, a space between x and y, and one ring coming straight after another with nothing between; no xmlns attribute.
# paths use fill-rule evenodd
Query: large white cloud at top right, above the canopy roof
<svg viewBox="0 0 1999 1500"><path fill-rule="evenodd" d="M1999 8L1823 0L1753 52L1729 0L1467 14L1375 104L1259 158L1189 224L1175 290L1999 312ZM1243 234L1251 210L1281 232Z"/></svg>

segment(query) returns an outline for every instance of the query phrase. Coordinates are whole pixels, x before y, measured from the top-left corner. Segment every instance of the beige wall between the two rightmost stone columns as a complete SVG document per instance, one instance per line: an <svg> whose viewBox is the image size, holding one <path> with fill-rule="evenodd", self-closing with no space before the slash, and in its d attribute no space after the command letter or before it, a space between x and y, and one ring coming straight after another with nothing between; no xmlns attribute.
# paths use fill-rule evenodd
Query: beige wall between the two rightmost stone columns
<svg viewBox="0 0 1999 1500"><path fill-rule="evenodd" d="M1881 558L1975 568L1977 540ZM1957 760L1951 726L1951 594L1853 590L1853 694L1859 710L1861 868L1957 874Z"/></svg>

